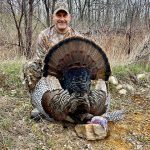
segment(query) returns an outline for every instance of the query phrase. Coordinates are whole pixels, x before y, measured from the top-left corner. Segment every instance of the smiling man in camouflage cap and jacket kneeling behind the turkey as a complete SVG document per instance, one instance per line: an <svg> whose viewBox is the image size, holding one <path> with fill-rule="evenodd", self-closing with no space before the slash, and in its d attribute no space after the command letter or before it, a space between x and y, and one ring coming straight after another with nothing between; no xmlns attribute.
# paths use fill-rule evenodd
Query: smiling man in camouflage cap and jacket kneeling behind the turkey
<svg viewBox="0 0 150 150"><path fill-rule="evenodd" d="M39 34L34 61L24 67L25 81L30 92L34 90L36 83L42 76L43 60L49 49L63 39L79 36L79 33L69 26L70 20L67 4L56 3L53 13L54 25Z"/></svg>

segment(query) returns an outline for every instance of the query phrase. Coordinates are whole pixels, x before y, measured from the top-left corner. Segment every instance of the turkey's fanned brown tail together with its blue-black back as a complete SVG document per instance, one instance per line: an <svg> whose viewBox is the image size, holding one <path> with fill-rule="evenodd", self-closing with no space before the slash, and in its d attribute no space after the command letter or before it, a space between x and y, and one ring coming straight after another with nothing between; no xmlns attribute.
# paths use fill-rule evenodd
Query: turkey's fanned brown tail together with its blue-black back
<svg viewBox="0 0 150 150"><path fill-rule="evenodd" d="M68 38L55 45L45 58L44 76L59 79L69 93L88 90L90 80L108 80L111 70L106 54L94 42Z"/></svg>

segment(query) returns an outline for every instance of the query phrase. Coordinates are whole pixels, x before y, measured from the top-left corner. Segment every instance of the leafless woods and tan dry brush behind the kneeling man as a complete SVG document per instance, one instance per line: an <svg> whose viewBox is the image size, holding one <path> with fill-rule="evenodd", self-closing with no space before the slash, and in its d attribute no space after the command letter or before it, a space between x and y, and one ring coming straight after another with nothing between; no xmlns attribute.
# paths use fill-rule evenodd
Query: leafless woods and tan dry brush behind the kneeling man
<svg viewBox="0 0 150 150"><path fill-rule="evenodd" d="M1 58L22 55L32 58L39 32L53 24L56 1L1 0ZM67 0L67 3L71 26L95 40L108 56L115 57L113 60L126 60L130 56L130 61L133 56L139 59L143 55L145 60L146 46L150 43L150 0Z"/></svg>

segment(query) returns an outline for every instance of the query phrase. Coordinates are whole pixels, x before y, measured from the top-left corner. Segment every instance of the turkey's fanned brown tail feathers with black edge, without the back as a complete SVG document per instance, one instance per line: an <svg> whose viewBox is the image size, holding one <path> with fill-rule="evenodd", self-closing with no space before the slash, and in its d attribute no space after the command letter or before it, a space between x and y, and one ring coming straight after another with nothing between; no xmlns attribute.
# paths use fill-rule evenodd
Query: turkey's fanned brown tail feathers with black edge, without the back
<svg viewBox="0 0 150 150"><path fill-rule="evenodd" d="M44 76L58 79L72 68L87 68L90 79L108 80L111 69L104 51L93 41L82 37L65 39L52 47L44 60Z"/></svg>

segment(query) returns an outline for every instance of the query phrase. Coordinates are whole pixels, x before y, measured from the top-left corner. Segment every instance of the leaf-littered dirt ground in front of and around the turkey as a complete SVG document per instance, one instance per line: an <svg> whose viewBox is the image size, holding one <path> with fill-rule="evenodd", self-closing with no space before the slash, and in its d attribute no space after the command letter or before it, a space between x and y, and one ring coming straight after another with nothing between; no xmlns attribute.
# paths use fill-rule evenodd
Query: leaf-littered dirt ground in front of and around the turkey
<svg viewBox="0 0 150 150"><path fill-rule="evenodd" d="M149 83L147 83L148 85ZM0 96L0 149L2 150L149 150L150 89L138 85L133 94L112 92L111 110L126 110L125 118L109 123L104 140L79 138L73 124L30 119L29 96L16 89Z"/></svg>

